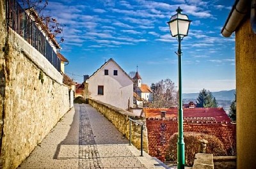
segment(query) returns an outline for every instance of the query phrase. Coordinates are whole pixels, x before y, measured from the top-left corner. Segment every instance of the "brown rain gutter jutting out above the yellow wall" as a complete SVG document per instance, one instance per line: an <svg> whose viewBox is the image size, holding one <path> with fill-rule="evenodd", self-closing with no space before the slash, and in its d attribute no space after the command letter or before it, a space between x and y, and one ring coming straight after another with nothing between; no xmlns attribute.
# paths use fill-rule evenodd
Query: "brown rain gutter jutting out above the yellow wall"
<svg viewBox="0 0 256 169"><path fill-rule="evenodd" d="M250 6L250 0L236 0L232 6L228 18L221 30L221 34L225 37L230 37L231 34L236 31L245 15L248 13L248 7Z"/></svg>

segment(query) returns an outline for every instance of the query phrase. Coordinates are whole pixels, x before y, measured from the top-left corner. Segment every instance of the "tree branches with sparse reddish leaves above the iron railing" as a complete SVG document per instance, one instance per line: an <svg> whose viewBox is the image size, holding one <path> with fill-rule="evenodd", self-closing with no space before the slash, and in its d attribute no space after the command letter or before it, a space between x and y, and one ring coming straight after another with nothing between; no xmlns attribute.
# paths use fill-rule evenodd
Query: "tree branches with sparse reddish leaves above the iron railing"
<svg viewBox="0 0 256 169"><path fill-rule="evenodd" d="M19 0L19 3L28 11L29 17L31 15L38 16L34 21L47 34L49 40L56 38L56 36L63 32L63 25L56 18L51 17L51 15L45 15L44 13L48 5L48 0ZM63 41L63 37L60 37L60 42L62 43Z"/></svg>

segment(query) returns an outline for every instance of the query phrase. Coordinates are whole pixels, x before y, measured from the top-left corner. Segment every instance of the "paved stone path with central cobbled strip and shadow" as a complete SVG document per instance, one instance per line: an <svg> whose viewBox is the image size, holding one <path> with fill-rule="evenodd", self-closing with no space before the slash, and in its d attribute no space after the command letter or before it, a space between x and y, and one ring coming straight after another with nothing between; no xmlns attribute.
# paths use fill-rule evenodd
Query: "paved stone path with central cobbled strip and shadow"
<svg viewBox="0 0 256 169"><path fill-rule="evenodd" d="M111 122L90 105L75 105L19 169L167 168L129 145Z"/></svg>

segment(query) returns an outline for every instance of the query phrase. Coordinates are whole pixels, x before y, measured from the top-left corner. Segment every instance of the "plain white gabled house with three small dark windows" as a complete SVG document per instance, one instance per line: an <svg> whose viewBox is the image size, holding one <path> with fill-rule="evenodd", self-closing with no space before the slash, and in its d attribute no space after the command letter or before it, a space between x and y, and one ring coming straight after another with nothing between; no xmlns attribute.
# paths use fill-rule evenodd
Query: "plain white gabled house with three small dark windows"
<svg viewBox="0 0 256 169"><path fill-rule="evenodd" d="M133 82L131 77L113 60L105 62L87 80L88 97L127 110L132 107Z"/></svg>

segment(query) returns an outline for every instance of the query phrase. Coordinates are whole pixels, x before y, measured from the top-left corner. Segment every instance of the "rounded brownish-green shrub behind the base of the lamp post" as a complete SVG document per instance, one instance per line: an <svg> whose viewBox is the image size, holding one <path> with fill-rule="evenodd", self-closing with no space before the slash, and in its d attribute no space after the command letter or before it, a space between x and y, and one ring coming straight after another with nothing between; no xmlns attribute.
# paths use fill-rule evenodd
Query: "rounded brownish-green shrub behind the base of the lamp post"
<svg viewBox="0 0 256 169"><path fill-rule="evenodd" d="M213 154L213 156L225 156L227 155L223 143L212 135L206 135L204 133L184 133L185 143L185 159L187 166L193 166L195 154L198 153L199 141L207 140L206 153ZM169 147L166 150L166 161L177 161L177 140L178 133L174 133L170 137Z"/></svg>

